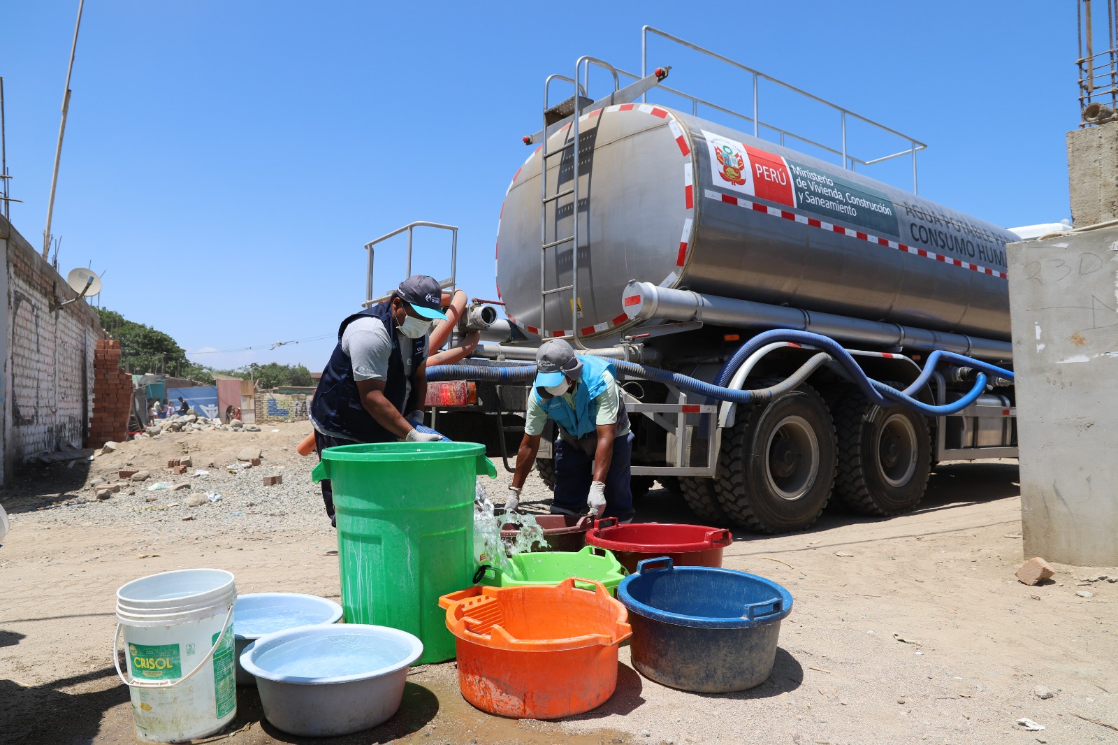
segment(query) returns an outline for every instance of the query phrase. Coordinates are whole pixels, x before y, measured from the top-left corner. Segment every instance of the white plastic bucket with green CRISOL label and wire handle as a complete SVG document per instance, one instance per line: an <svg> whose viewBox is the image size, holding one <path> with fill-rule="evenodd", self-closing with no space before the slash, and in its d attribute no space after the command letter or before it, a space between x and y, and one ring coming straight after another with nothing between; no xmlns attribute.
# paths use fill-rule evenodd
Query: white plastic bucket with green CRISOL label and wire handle
<svg viewBox="0 0 1118 745"><path fill-rule="evenodd" d="M181 743L212 735L237 715L233 607L222 569L181 569L116 591L113 662L132 695L136 737ZM127 677L116 645L124 630Z"/></svg>

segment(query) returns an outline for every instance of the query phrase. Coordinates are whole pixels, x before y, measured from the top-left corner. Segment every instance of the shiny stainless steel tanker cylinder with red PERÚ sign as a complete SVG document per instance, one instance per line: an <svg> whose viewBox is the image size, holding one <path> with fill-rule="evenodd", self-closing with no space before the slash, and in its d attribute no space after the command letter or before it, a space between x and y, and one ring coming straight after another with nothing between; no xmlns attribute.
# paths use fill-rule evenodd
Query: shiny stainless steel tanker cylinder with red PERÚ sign
<svg viewBox="0 0 1118 745"><path fill-rule="evenodd" d="M989 339L1008 339L1012 233L787 148L647 104L579 122L578 327L632 324L629 280ZM550 138L555 151L571 136ZM572 148L548 159L548 195L572 183ZM505 195L498 286L509 317L540 332L543 243L571 234L572 196L548 204L541 152ZM548 248L546 284L571 281L571 244ZM548 296L548 333L572 332L570 292Z"/></svg>

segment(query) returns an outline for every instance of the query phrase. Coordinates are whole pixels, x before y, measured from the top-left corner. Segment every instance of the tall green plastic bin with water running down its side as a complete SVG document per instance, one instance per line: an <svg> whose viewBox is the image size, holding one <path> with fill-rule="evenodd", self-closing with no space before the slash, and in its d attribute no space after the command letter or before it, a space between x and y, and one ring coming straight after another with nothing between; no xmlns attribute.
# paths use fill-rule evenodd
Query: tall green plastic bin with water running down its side
<svg viewBox="0 0 1118 745"><path fill-rule="evenodd" d="M468 442L328 447L311 477L333 482L347 623L423 641L417 664L454 658L438 598L471 586L475 477L496 477Z"/></svg>

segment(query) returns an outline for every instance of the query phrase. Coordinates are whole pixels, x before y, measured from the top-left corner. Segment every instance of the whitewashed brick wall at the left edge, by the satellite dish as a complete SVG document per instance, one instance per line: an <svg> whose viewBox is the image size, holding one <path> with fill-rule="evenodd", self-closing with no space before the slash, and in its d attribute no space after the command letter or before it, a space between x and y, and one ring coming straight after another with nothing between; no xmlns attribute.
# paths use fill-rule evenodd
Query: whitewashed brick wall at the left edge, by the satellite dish
<svg viewBox="0 0 1118 745"><path fill-rule="evenodd" d="M93 356L104 338L85 301L0 217L3 252L3 458L0 483L28 458L83 446L93 404Z"/></svg>

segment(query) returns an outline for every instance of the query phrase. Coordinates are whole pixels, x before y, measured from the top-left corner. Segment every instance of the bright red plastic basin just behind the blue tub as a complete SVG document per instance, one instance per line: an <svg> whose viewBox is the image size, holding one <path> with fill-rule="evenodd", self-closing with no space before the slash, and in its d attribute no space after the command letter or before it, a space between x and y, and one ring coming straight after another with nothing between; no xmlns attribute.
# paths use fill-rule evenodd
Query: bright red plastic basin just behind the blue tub
<svg viewBox="0 0 1118 745"><path fill-rule="evenodd" d="M670 556L675 566L722 566L722 549L733 543L726 528L674 522L618 525L617 518L595 520L588 546L608 548L629 573L637 562Z"/></svg>

